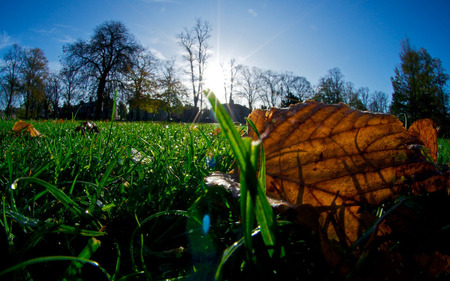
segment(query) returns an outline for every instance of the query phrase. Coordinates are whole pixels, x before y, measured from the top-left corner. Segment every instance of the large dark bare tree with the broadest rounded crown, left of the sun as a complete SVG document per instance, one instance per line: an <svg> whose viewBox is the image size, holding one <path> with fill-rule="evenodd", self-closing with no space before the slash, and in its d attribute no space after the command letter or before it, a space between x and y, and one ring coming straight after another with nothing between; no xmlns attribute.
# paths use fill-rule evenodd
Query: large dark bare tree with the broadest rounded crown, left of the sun
<svg viewBox="0 0 450 281"><path fill-rule="evenodd" d="M118 21L98 26L89 41L77 41L64 46L64 59L77 65L90 77L95 77L96 118L103 118L107 92L120 82L117 76L129 69L134 56L141 50L134 36ZM109 85L108 85L109 84Z"/></svg>

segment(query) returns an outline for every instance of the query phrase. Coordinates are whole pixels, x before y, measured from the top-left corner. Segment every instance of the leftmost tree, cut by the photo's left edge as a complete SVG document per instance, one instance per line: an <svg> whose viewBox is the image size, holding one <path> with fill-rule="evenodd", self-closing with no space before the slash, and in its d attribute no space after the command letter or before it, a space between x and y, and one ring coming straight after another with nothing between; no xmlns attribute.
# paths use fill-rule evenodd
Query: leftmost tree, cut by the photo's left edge
<svg viewBox="0 0 450 281"><path fill-rule="evenodd" d="M14 106L22 87L20 80L24 56L24 49L14 44L3 56L0 66L0 94L7 117L11 116L11 108Z"/></svg>

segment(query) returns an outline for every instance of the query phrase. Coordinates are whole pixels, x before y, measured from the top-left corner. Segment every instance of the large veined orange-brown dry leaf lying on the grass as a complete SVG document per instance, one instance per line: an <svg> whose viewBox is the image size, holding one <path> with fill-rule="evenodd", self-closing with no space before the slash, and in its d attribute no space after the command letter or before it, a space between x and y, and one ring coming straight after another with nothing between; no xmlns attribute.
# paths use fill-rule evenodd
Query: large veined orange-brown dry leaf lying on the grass
<svg viewBox="0 0 450 281"><path fill-rule="evenodd" d="M448 184L394 116L314 101L255 110L266 153L267 194L320 211L327 239L349 246L372 224L363 204ZM249 136L256 134L249 129Z"/></svg>

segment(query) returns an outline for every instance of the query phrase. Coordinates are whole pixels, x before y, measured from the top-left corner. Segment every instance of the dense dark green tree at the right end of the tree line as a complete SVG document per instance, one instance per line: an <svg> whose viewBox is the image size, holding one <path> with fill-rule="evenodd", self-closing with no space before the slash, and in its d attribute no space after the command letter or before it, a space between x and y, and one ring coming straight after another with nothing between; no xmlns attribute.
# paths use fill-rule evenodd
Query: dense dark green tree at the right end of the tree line
<svg viewBox="0 0 450 281"><path fill-rule="evenodd" d="M400 60L401 65L391 78L394 89L391 113L400 119L406 116L408 124L431 118L447 134L450 121L449 76L441 60L432 58L424 48L414 49L408 39L401 43Z"/></svg>

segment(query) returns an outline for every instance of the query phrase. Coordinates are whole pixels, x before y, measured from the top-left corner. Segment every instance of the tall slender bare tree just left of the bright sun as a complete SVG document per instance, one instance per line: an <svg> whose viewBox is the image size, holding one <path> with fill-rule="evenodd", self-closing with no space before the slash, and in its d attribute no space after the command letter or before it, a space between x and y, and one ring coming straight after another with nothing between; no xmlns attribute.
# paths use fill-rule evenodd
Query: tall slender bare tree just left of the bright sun
<svg viewBox="0 0 450 281"><path fill-rule="evenodd" d="M184 60L188 62L190 78L192 83L192 94L194 97L194 107L200 101L200 108L203 106L203 74L208 59L208 39L211 37L211 26L207 21L197 18L192 28L184 28L184 31L177 35L179 45L185 51Z"/></svg>

